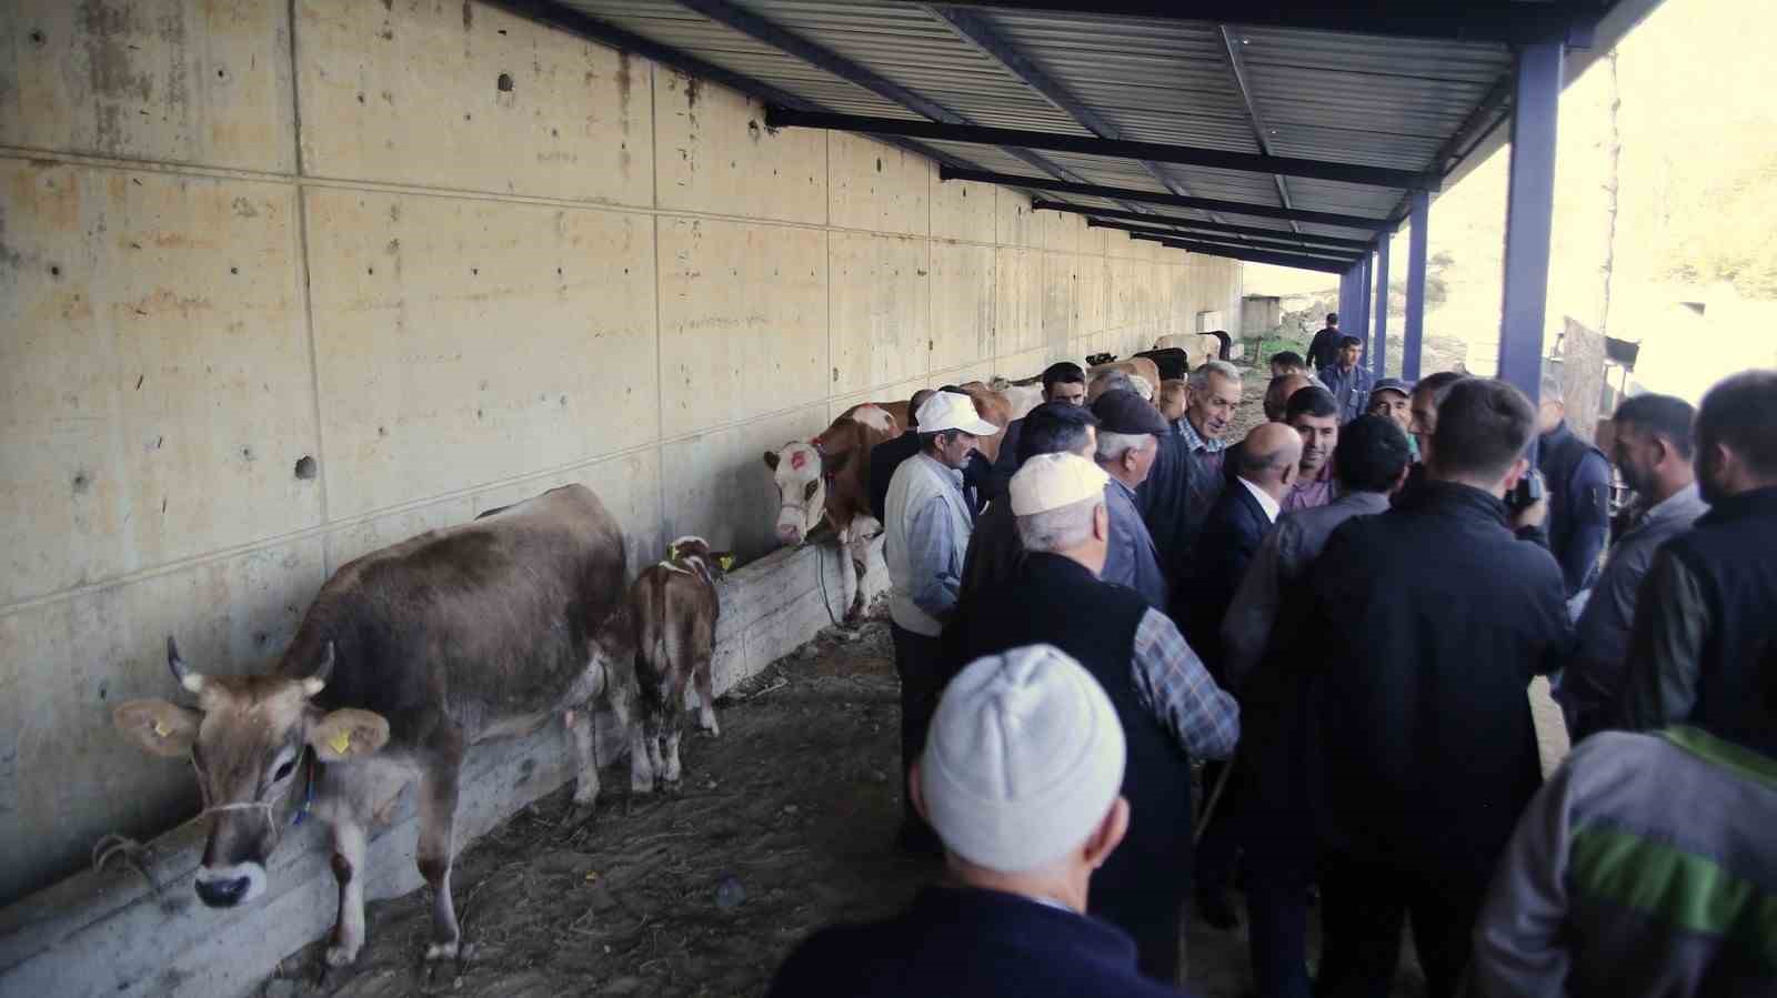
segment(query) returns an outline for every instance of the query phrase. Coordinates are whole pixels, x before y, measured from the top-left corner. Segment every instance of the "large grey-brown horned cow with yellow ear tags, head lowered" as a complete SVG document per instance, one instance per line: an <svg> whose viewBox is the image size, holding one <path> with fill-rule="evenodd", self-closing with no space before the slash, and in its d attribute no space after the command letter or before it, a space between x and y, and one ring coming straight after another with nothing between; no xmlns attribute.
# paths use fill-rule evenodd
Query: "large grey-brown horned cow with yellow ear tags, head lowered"
<svg viewBox="0 0 1777 998"><path fill-rule="evenodd" d="M169 638L167 664L197 707L135 700L114 721L147 751L195 767L211 820L197 897L210 907L265 893L267 859L300 815L332 826L332 966L364 945L368 826L418 780L418 863L434 893L426 959L450 959L460 938L450 872L464 753L594 700L629 726L634 634L624 597L617 520L569 485L341 566L270 673L192 671ZM590 808L592 716L574 714L574 801ZM634 735L631 746L634 785L647 751Z"/></svg>

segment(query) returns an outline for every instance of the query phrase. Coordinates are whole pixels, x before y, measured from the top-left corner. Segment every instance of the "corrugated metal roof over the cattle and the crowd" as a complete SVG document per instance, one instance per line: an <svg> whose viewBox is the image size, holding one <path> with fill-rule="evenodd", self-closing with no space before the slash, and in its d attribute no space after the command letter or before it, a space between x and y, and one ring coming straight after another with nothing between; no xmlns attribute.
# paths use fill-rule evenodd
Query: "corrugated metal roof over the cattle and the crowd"
<svg viewBox="0 0 1777 998"><path fill-rule="evenodd" d="M556 4L839 114L924 119L920 112L929 112L947 123L1072 137L1095 135L1102 126L1111 137L1137 142L1411 172L1445 167L1439 156L1446 154L1452 137L1512 69L1509 48L1489 41L1427 41L1008 5L970 9L968 16L983 27L972 32L952 25L940 11L892 0ZM766 30L759 30L759 23ZM983 44L979 30L992 36L990 44ZM791 43L784 44L775 32L787 32ZM821 66L785 51L800 44L825 50L826 55L810 57ZM1233 48L1231 57L1228 48ZM1006 50L1054 82L1063 91L1061 98L1040 92L1020 76L1008 64ZM1080 107L1089 117L1073 114ZM1299 211L1386 218L1404 195L1393 186L1178 163L1150 167L1137 160L1079 153L956 140L924 146L983 170L1031 178L1047 172L1100 186L1178 192L1262 208L1285 206L1287 194L1288 208ZM1045 197L1127 208L1104 197ZM1180 218L1207 217L1180 206L1143 210ZM1215 217L1279 233L1297 227L1345 238L1372 236L1365 229L1253 215Z"/></svg>

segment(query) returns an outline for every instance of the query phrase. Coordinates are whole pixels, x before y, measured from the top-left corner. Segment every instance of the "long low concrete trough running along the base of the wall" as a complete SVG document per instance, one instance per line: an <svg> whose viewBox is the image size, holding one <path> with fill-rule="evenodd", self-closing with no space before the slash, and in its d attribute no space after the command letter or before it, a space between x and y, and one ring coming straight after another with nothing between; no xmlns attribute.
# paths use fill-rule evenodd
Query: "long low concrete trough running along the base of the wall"
<svg viewBox="0 0 1777 998"><path fill-rule="evenodd" d="M865 597L887 590L880 547L862 581ZM713 666L718 696L844 613L841 558L830 545L784 549L721 582ZM601 762L608 765L626 748L611 719L601 716ZM458 849L567 783L570 760L565 732L554 723L522 739L473 749L457 806ZM602 776L602 803L610 806L627 792L627 772L606 769ZM416 840L409 790L389 826L370 840L368 899L400 897L421 886ZM147 877L112 861L105 872L78 874L0 911L0 994L247 994L283 957L332 927L338 890L323 822L291 829L267 870L267 897L235 911L211 911L192 891L203 844L204 826L192 820L144 844L140 859ZM466 888L458 884L458 891Z"/></svg>

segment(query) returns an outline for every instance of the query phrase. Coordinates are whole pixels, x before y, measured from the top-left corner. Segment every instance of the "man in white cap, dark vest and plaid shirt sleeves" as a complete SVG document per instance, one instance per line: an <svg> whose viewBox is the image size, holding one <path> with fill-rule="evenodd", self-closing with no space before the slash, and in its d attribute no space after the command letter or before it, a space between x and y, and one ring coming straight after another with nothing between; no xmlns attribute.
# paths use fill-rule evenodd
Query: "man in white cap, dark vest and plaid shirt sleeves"
<svg viewBox="0 0 1777 998"><path fill-rule="evenodd" d="M1111 696L1128 742L1130 835L1098 872L1091 913L1134 936L1141 971L1169 984L1191 891L1191 758L1228 758L1240 709L1164 613L1100 581L1111 540L1105 481L1075 455L1038 455L1018 469L1009 499L1024 566L963 607L944 653L960 668L1008 648L1054 645Z"/></svg>

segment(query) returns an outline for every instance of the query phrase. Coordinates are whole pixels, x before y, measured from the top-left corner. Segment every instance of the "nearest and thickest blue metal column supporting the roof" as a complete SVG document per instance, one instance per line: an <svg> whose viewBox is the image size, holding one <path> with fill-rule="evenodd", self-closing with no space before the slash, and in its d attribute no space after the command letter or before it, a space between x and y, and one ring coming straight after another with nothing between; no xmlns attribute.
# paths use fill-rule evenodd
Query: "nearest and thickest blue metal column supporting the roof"
<svg viewBox="0 0 1777 998"><path fill-rule="evenodd" d="M1555 112L1562 43L1518 51L1512 92L1512 178L1505 199L1505 302L1500 309L1500 376L1530 401L1542 387L1542 316L1550 291L1550 227L1555 213Z"/></svg>

